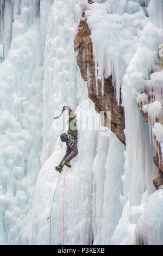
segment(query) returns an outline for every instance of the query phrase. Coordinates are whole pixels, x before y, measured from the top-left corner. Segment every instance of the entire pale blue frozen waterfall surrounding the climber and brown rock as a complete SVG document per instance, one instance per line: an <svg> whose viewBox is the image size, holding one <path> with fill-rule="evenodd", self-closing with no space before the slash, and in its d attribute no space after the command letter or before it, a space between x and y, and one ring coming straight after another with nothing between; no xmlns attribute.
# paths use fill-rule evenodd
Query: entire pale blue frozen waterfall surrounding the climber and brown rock
<svg viewBox="0 0 163 256"><path fill-rule="evenodd" d="M49 245L50 235L52 245L62 245L63 206L64 245L136 245L139 237L163 245L162 190L152 182L158 172L153 120L162 116L163 76L155 62L163 1L92 2L1 0L0 245ZM83 11L96 76L112 75L118 104L122 89L126 146L101 126L77 66L73 41ZM137 102L140 90L152 87L156 103L145 105L148 126ZM64 205L61 176L50 222L68 118L54 120L53 113L65 105L77 112L79 153L67 170ZM161 144L162 126L155 123L153 131Z"/></svg>

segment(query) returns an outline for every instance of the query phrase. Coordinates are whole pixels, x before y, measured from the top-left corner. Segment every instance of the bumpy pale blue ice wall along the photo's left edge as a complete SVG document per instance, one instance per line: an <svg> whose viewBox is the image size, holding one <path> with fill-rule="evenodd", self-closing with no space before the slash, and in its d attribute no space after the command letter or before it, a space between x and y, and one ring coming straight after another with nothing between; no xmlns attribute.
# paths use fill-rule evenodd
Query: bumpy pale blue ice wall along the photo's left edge
<svg viewBox="0 0 163 256"><path fill-rule="evenodd" d="M42 149L40 9L38 1L1 1L1 11L2 5L1 244L24 245Z"/></svg>

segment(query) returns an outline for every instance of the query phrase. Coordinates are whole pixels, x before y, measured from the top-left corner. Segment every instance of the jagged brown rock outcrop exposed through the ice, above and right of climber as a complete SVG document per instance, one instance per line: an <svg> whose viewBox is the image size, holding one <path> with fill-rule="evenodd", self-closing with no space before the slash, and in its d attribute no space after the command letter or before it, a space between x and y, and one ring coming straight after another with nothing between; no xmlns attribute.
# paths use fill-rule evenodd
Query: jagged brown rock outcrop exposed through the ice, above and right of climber
<svg viewBox="0 0 163 256"><path fill-rule="evenodd" d="M83 80L87 81L89 97L95 103L96 112L105 112L105 121L102 125L111 128L111 131L116 134L117 138L126 145L124 135L124 108L117 105L111 76L104 79L104 93L102 93L102 81L97 80L96 82L93 46L90 35L91 31L83 13L83 19L79 23L78 31L74 38L74 51L76 53L77 64ZM109 112L111 112L111 118ZM108 118L110 122L106 121Z"/></svg>

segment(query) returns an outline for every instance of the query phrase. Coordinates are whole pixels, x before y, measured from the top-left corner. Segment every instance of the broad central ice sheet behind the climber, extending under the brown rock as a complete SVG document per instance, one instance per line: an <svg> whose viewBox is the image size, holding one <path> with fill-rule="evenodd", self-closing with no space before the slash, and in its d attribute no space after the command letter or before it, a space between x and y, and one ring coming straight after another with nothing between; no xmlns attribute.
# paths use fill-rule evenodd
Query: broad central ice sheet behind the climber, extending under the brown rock
<svg viewBox="0 0 163 256"><path fill-rule="evenodd" d="M86 83L82 80L74 56L73 38L78 26L78 15L81 14L78 3L75 3L55 1L47 23L43 81L43 166L35 187L32 244L49 244L50 235L52 245L62 244L65 172L62 174L54 200L51 234L51 222L46 218L51 211L53 193L59 176L54 167L65 154L65 145L60 142L59 136L62 130L66 131L62 124L67 120L67 115L53 120L53 112L59 114L63 105L69 105L74 109L77 106L79 129L79 154L72 161L72 169L66 174L64 244L88 245L92 241L97 244L110 243L110 237L122 211L119 196L122 193L124 147L113 134L107 133L103 137L98 130L89 130L90 124L83 118L83 113L89 113L93 120L99 122L95 106L87 98ZM118 162L116 154L115 158L111 156L114 149L119 157ZM118 187L112 193L114 182ZM112 187L108 183L112 183ZM109 209L114 200L116 204L112 204L112 208Z"/></svg>

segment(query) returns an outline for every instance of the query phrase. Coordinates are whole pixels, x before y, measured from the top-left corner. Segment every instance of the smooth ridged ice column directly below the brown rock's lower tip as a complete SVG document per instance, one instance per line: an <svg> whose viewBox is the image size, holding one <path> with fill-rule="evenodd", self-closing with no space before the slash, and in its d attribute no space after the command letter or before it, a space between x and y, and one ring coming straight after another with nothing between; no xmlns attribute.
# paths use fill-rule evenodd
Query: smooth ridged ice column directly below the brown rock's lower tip
<svg viewBox="0 0 163 256"><path fill-rule="evenodd" d="M114 133L110 132L108 139L99 135L93 161L93 245L112 244L111 236L122 214L124 150Z"/></svg>

